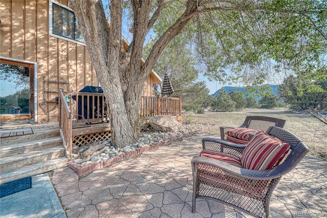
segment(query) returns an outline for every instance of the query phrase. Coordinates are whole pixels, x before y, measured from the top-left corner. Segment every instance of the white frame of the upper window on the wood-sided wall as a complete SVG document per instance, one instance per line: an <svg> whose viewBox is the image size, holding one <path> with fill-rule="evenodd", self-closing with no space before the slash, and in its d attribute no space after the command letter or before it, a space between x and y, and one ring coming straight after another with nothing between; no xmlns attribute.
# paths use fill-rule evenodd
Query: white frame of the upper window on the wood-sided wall
<svg viewBox="0 0 327 218"><path fill-rule="evenodd" d="M65 37L65 36L62 36L62 35L57 35L57 34L53 33L53 28L54 28L53 27L54 26L53 25L53 15L54 15L53 14L54 13L53 5L57 5L57 6L65 9L65 10L68 10L68 11L72 12L74 14L74 17L75 17L75 19L74 19L74 27L75 28L76 28L76 23L77 23L76 15L75 15L74 11L71 8L69 8L69 7L67 7L67 6L65 6L63 4L60 4L60 3L58 3L58 2L56 2L54 0L50 0L49 1L49 35L53 36L53 37L56 37L56 38L66 40L66 41L74 42L74 43L77 43L77 44L82 45L82 46L86 46L85 42L81 42L81 41L78 41L76 39L68 38L68 37ZM75 36L76 36L76 30L74 30L74 37Z"/></svg>

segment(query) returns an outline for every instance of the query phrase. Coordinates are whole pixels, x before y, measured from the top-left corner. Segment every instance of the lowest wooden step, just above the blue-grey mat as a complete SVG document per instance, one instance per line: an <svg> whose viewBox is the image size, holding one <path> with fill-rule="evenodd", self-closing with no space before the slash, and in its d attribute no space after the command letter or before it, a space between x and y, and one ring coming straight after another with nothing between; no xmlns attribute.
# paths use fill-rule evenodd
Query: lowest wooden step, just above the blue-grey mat
<svg viewBox="0 0 327 218"><path fill-rule="evenodd" d="M22 166L11 172L1 171L0 184L11 182L14 180L22 179L25 177L31 177L38 175L40 173L48 172L60 167L68 165L68 160L66 157L60 157L54 160L42 161L39 163L31 164L28 166Z"/></svg>

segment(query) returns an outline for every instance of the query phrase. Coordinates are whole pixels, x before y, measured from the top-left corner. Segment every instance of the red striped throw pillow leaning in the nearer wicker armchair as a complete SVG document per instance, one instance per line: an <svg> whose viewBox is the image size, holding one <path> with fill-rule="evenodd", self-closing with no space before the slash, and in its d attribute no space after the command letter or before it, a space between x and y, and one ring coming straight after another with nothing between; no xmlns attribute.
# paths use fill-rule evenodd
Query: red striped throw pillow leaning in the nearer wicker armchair
<svg viewBox="0 0 327 218"><path fill-rule="evenodd" d="M283 160L289 149L288 143L274 139L260 130L246 145L241 163L245 169L270 169Z"/></svg>

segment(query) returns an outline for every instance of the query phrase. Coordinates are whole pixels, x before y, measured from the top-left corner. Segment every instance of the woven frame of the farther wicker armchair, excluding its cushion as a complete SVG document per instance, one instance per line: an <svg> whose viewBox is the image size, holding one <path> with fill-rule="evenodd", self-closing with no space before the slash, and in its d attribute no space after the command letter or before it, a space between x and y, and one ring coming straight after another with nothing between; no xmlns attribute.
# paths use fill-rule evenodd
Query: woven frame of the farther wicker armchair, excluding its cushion
<svg viewBox="0 0 327 218"><path fill-rule="evenodd" d="M249 128L254 130L264 130L265 132L269 128L269 126L278 126L283 128L286 120L274 118L274 117L265 117L265 116L247 116L243 124L237 128ZM222 140L226 140L226 132L231 129L235 129L236 127L230 126L220 126L220 138ZM242 141L242 140L241 140ZM238 144L246 144L246 142L237 142Z"/></svg>

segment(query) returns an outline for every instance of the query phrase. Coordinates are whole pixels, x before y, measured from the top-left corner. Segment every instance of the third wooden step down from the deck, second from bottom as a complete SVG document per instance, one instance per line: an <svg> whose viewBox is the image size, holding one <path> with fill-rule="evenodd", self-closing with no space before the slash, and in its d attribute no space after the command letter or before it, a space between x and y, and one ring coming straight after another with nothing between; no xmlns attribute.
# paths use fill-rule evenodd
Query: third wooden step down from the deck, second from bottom
<svg viewBox="0 0 327 218"><path fill-rule="evenodd" d="M43 161L50 161L65 156L63 146L45 148L30 151L26 154L18 154L0 159L0 170L2 173L15 171L18 168L37 164Z"/></svg>

